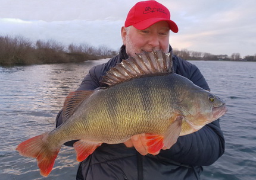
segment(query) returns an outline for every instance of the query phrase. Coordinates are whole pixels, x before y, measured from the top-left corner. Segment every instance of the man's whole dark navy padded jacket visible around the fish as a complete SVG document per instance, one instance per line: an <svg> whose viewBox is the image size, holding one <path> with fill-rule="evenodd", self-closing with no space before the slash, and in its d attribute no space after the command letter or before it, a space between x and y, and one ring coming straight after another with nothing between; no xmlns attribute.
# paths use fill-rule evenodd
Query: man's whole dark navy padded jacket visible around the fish
<svg viewBox="0 0 256 180"><path fill-rule="evenodd" d="M102 86L102 75L122 59L127 59L124 46L107 63L90 69L78 90L93 90ZM201 88L209 89L195 65L175 55L173 65L177 74L185 76ZM62 123L61 114L57 116L57 126ZM72 146L72 142L66 145ZM102 144L80 163L77 179L199 179L202 166L216 162L223 153L224 137L219 120L216 120L195 133L180 136L171 149L161 150L157 156L142 156L123 143Z"/></svg>

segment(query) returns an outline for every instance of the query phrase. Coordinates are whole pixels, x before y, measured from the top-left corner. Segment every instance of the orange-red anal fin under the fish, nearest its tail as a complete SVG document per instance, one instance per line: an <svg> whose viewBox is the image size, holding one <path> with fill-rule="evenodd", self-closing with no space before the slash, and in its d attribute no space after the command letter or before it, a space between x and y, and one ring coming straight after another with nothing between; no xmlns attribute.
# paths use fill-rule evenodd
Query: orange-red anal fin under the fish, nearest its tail
<svg viewBox="0 0 256 180"><path fill-rule="evenodd" d="M73 146L74 150L76 150L76 160L81 162L92 154L97 147L101 146L101 143L79 140Z"/></svg>

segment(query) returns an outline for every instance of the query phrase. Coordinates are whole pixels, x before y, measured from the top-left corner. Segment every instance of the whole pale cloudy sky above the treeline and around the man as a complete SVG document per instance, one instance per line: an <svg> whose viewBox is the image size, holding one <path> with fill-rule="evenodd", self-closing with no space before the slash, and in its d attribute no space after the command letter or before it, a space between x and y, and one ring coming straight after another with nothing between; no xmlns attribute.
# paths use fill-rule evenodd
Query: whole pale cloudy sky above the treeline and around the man
<svg viewBox="0 0 256 180"><path fill-rule="evenodd" d="M121 27L135 0L0 0L0 36L32 42L122 45ZM256 54L255 0L158 0L179 32L170 31L174 49L211 54Z"/></svg>

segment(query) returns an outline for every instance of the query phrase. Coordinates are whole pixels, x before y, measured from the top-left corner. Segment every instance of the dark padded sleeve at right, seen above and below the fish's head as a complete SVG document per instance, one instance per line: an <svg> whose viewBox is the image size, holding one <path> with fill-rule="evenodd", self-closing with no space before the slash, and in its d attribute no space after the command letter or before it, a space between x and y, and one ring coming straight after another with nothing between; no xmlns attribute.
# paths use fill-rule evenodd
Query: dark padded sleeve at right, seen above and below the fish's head
<svg viewBox="0 0 256 180"><path fill-rule="evenodd" d="M190 79L201 88L209 89L200 70L195 65L178 59L177 73ZM168 157L186 165L211 165L224 153L224 137L220 129L220 120L205 125L201 130L186 136L180 136L171 149L163 150L160 156Z"/></svg>

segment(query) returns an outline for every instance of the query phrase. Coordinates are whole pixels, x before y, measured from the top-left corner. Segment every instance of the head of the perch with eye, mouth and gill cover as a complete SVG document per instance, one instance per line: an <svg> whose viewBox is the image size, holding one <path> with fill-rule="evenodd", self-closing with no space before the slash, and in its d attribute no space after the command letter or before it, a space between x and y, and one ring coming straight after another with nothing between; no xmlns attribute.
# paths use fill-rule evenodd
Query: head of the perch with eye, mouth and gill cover
<svg viewBox="0 0 256 180"><path fill-rule="evenodd" d="M195 88L179 103L180 113L190 126L199 130L227 112L226 103L213 93Z"/></svg>

